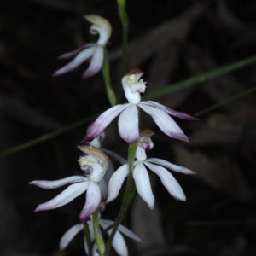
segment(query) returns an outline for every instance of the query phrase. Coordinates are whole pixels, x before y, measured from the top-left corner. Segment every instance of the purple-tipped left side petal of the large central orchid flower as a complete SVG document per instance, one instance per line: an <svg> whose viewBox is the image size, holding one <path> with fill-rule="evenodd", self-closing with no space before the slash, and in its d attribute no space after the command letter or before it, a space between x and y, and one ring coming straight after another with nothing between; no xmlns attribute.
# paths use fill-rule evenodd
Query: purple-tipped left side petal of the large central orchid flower
<svg viewBox="0 0 256 256"><path fill-rule="evenodd" d="M95 137L98 137L102 131L113 121L115 117L119 115L125 108L127 108L129 104L120 104L113 106L112 108L108 108L105 112L103 112L92 125L90 125L86 136L83 138L81 143L88 143L93 140Z"/></svg>

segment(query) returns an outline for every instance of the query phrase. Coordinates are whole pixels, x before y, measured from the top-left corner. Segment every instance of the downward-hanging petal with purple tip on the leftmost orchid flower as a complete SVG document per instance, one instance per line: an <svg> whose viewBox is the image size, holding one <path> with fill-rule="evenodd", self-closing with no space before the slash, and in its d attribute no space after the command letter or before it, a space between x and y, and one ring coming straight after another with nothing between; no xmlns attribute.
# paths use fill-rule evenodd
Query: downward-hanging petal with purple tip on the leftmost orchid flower
<svg viewBox="0 0 256 256"><path fill-rule="evenodd" d="M80 212L80 222L90 218L90 215L99 207L102 199L101 190L97 183L91 182L86 192L86 201L83 210Z"/></svg>

